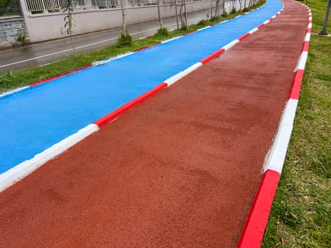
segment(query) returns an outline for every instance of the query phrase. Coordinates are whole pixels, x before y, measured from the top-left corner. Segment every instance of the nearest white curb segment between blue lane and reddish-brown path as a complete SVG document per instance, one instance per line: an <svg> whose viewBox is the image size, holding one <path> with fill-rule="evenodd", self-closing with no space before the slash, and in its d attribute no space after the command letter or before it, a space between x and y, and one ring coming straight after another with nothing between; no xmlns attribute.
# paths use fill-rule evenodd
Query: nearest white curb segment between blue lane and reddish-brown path
<svg viewBox="0 0 331 248"><path fill-rule="evenodd" d="M55 145L52 145L52 147L47 148L45 151L35 155L35 157L32 159L26 160L21 164L16 165L16 167L9 169L3 174L0 174L0 192L15 184L16 181L19 181L23 177L28 176L28 174L35 171L35 169L38 169L40 166L45 164L45 162L68 150L70 147L77 144L79 141L84 140L85 137L91 135L91 133L94 133L97 130L99 130L97 125L87 125L77 133L66 137L64 140L61 140Z"/></svg>

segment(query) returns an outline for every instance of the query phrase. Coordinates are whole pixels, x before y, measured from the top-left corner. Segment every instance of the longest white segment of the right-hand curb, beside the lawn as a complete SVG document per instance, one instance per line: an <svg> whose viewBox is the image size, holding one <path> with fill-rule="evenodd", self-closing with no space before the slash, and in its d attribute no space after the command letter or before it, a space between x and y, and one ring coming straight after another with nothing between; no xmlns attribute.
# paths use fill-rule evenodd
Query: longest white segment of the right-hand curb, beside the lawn
<svg viewBox="0 0 331 248"><path fill-rule="evenodd" d="M267 163L264 165L263 173L268 169L272 169L281 174L288 142L290 141L293 129L293 121L296 115L297 106L298 100L295 99L289 99L286 103L286 107L281 118L281 123L274 139L274 145L271 147Z"/></svg>

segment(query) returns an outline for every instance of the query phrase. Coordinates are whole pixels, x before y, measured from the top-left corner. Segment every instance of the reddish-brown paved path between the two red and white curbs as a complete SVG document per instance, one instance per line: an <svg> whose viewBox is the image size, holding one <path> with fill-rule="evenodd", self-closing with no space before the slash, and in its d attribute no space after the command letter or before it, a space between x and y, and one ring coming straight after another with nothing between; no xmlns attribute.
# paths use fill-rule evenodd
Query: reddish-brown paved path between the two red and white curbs
<svg viewBox="0 0 331 248"><path fill-rule="evenodd" d="M0 247L235 247L307 26L303 6L284 3L257 33L3 191Z"/></svg>

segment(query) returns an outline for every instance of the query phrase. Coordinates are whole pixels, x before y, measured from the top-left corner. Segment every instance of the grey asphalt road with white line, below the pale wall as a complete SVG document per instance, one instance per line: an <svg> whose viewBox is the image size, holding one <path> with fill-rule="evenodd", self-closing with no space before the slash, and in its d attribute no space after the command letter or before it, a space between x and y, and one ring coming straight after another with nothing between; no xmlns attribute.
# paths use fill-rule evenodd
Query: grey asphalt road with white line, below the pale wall
<svg viewBox="0 0 331 248"><path fill-rule="evenodd" d="M205 18L208 10L189 13L188 23L197 23ZM169 30L176 29L176 17L164 18L164 26ZM153 35L159 28L158 21L138 23L128 26L128 31L134 39L144 38ZM74 37L74 44L78 52L99 50L108 45L116 43L121 28L101 30L99 32L77 35ZM8 72L13 69L24 69L62 60L72 53L72 45L69 38L34 43L21 47L11 47L0 50L0 71Z"/></svg>

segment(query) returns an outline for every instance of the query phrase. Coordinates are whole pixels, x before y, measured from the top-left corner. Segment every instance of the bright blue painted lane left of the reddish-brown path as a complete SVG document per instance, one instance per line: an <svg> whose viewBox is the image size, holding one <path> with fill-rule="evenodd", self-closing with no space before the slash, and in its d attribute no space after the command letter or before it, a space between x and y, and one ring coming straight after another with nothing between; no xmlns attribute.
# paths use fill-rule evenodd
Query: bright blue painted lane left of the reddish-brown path
<svg viewBox="0 0 331 248"><path fill-rule="evenodd" d="M282 6L269 0L232 21L0 98L0 174L190 67Z"/></svg>

